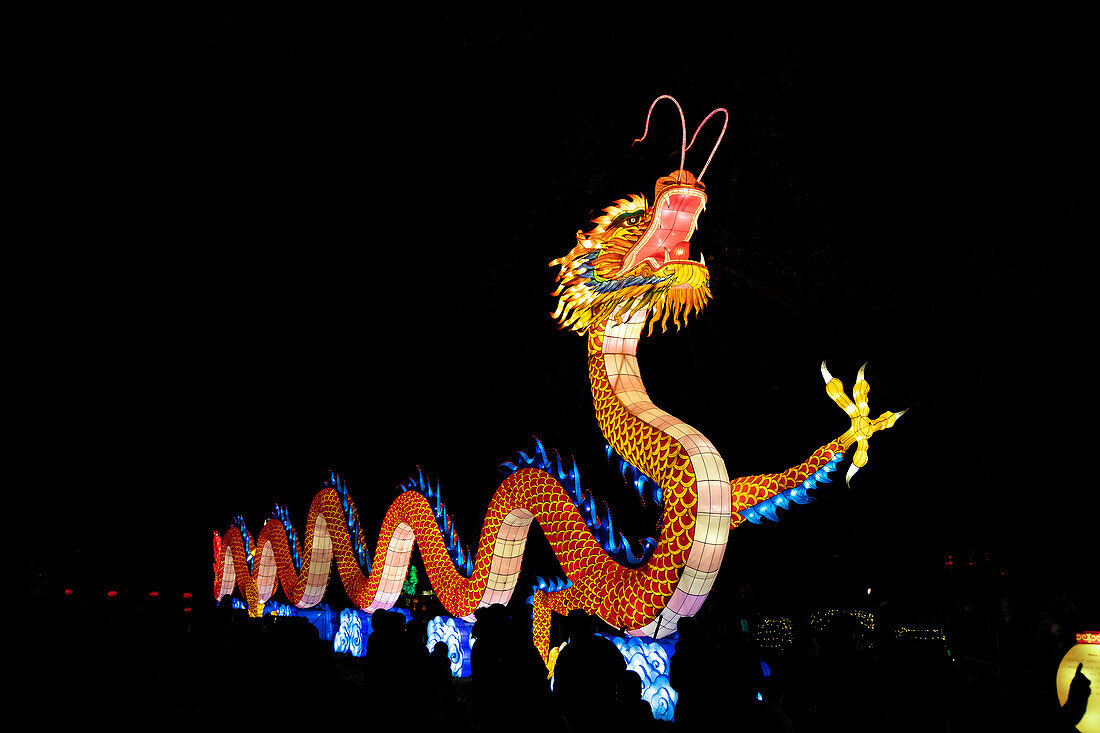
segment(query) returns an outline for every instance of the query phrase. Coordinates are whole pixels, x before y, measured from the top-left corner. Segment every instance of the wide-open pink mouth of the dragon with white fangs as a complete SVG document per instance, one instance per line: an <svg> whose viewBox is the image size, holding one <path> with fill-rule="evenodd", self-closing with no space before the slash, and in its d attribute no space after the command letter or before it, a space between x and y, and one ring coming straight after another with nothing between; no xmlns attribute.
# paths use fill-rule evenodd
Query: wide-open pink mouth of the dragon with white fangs
<svg viewBox="0 0 1100 733"><path fill-rule="evenodd" d="M623 258L623 276L637 265L648 262L654 272L669 264L705 267L703 255L691 259L691 236L695 233L698 215L706 206L706 194L693 186L664 188L653 205L653 220L638 243ZM680 287L680 286L674 286Z"/></svg>

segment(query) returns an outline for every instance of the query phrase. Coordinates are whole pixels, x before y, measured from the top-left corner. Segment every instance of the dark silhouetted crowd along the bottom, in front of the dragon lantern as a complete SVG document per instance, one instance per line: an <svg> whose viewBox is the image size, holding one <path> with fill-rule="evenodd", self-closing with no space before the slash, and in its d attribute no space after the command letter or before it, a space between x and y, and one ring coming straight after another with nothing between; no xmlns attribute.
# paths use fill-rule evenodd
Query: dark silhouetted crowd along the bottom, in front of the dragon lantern
<svg viewBox="0 0 1100 733"><path fill-rule="evenodd" d="M476 612L472 674L460 679L446 644L429 650L426 624L396 612L373 614L367 655L356 658L334 653L305 619L250 619L228 599L195 602L184 614L168 601L50 598L32 597L16 619L14 687L20 707L47 730L190 731L235 721L460 733L1069 733L1090 692L1078 674L1070 701L1059 709L1053 700L1054 669L1072 643L1067 630L1079 625L1071 614L1080 613L1057 603L1027 617L1005 602L991 623L979 623L964 602L946 656L844 615L796 630L789 648L762 650L715 602L680 622L668 670L679 693L670 723L653 719L639 676L597 633L612 630L583 612L554 622L553 643L568 643L551 687L531 641L530 606L517 601ZM983 670L988 644L1001 653Z"/></svg>

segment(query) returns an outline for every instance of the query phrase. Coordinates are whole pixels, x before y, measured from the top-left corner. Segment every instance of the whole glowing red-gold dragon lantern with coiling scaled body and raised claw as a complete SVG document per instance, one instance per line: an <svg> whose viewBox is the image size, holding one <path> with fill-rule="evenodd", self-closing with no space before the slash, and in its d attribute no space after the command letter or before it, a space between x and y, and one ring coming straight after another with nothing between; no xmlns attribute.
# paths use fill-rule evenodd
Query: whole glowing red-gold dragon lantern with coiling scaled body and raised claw
<svg viewBox="0 0 1100 733"><path fill-rule="evenodd" d="M653 106L661 99L659 97ZM653 106L650 107L652 114ZM679 109L679 103L676 103ZM717 112L711 112L700 130ZM683 112L680 113L683 123ZM649 118L646 121L646 132ZM388 609L397 601L416 543L436 595L457 617L507 603L519 578L527 533L538 522L565 578L540 581L534 604L534 638L549 659L550 614L582 609L635 636L660 638L679 620L698 611L714 584L729 530L748 521L777 518L777 508L806 503L809 491L828 481L843 455L856 446L847 478L867 462L867 440L892 427L900 413L868 417L869 386L860 370L851 397L822 364L828 396L848 414L850 426L802 463L781 473L730 480L726 463L703 434L650 401L636 357L642 331L679 328L711 298L703 256L690 240L706 204L702 183L684 169L691 147L682 124L680 168L658 179L652 203L642 196L615 201L578 232L576 245L550 263L559 266L554 318L587 338L588 378L608 451L618 455L625 477L661 506L660 532L635 550L612 528L579 482L575 466L551 458L541 444L504 464L507 475L490 502L474 553L459 540L453 523L422 475L410 479L382 524L374 562L363 549L355 505L339 477L315 496L304 547L285 510L277 507L253 539L238 517L215 536L217 599L234 584L250 612L258 615L278 584L292 604L321 601L336 560L348 597L362 610ZM725 134L725 124L711 157ZM636 141L637 142L637 141ZM710 165L710 158L707 160ZM248 572L245 572L248 568Z"/></svg>

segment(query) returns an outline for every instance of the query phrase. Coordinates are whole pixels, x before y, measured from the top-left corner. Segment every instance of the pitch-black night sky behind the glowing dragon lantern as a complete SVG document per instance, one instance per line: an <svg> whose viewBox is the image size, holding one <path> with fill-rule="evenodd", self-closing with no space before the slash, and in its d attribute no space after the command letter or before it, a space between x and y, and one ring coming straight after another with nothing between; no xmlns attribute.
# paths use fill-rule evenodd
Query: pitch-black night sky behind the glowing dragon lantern
<svg viewBox="0 0 1100 733"><path fill-rule="evenodd" d="M845 429L823 359L847 385L869 362L873 414L911 408L850 489L739 528L719 582L917 606L947 551L992 553L1022 589L1093 571L1082 19L153 4L11 26L18 566L205 593L211 530L244 513L257 532L275 501L300 526L330 467L372 549L418 464L472 538L532 435L648 534L547 263L676 167L671 106L631 146L671 94L689 133L715 107L730 122L692 241L714 300L640 347L654 402L732 475Z"/></svg>

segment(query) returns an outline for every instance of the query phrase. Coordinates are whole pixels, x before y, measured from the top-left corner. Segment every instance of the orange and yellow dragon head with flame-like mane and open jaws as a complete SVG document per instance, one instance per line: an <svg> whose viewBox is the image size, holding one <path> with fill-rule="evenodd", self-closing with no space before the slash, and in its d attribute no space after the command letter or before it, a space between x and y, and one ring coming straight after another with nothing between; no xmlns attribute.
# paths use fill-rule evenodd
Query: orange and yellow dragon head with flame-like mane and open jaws
<svg viewBox="0 0 1100 733"><path fill-rule="evenodd" d="M711 298L703 255L693 259L691 237L706 207L706 188L688 171L657 179L653 204L641 195L616 200L576 247L550 262L559 265L558 309L562 328L585 333L608 318L649 314L649 332L669 319L679 329Z"/></svg>

